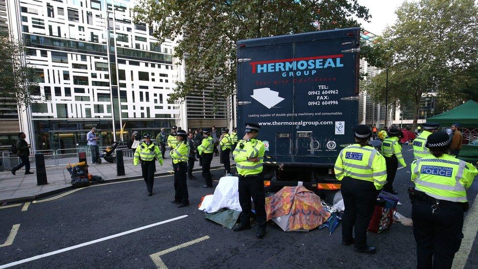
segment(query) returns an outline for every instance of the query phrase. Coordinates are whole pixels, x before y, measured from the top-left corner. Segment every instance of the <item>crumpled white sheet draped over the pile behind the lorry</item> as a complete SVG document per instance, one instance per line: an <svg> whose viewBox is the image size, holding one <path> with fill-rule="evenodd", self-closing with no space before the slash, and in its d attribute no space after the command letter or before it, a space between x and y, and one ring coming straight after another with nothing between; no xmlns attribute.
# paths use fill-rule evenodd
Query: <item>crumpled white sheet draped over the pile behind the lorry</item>
<svg viewBox="0 0 478 269"><path fill-rule="evenodd" d="M239 178L237 176L223 176L214 191L214 195L204 197L199 210L213 213L223 208L242 212L239 205Z"/></svg>

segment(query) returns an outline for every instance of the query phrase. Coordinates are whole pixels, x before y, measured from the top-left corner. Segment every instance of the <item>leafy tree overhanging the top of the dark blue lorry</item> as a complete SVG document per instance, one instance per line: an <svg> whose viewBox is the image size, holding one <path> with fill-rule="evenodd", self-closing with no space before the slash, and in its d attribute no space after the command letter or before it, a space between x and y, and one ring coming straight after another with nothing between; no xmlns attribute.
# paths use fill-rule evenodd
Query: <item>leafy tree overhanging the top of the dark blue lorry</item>
<svg viewBox="0 0 478 269"><path fill-rule="evenodd" d="M186 77L171 100L200 93L215 80L211 97L227 98L236 85L236 42L243 39L359 25L368 9L357 0L142 0L136 22L154 25L153 36L178 40L174 57L185 58ZM186 57L185 57L186 55Z"/></svg>

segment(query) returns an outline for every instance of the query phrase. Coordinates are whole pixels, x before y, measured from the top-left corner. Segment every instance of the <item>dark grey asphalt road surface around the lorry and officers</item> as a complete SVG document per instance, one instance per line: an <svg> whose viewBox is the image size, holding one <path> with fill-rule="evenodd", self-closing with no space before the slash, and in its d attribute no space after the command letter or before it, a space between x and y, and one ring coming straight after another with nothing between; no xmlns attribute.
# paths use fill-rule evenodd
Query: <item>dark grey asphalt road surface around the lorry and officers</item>
<svg viewBox="0 0 478 269"><path fill-rule="evenodd" d="M407 163L411 147L404 147ZM220 178L214 171L214 179ZM20 264L19 268L156 268L151 254L199 239L192 245L160 253L168 268L415 268L412 227L395 223L381 233L368 233L375 255L358 254L343 246L341 226L329 236L327 228L311 232L283 232L269 223L267 235L255 238L256 227L233 232L205 220L197 204L213 190L203 189L200 172L188 180L191 205L177 208L172 176L155 180L153 196L146 196L142 180L97 185L41 203L0 209L0 244L14 224L20 224L12 245L0 247L1 265L28 259L71 246L77 248ZM216 185L216 183L215 183ZM406 189L411 186L409 166L395 179L402 205L398 212L410 217ZM477 183L468 192L471 202ZM57 196L57 195L55 195ZM53 196L51 196L53 197ZM472 205L473 206L473 205ZM187 216L185 216L187 215ZM181 219L166 223L176 217ZM157 224L144 227L149 224ZM158 224L159 223L159 224ZM477 225L474 223L474 225ZM142 229L131 232L133 229ZM119 233L130 231L123 235ZM117 235L114 238L105 237ZM97 240L95 242L92 242ZM79 244L90 242L84 246ZM153 255L154 257L154 255ZM155 261L158 263L158 255ZM477 268L475 240L465 268Z"/></svg>

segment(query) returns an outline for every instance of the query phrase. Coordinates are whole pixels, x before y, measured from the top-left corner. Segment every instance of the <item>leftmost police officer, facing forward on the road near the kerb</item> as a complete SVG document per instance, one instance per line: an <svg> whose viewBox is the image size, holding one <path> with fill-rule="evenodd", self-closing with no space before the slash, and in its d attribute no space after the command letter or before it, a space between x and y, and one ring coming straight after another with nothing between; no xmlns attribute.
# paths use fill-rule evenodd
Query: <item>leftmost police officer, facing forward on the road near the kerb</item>
<svg viewBox="0 0 478 269"><path fill-rule="evenodd" d="M154 145L154 143L151 141L151 136L149 134L145 134L143 138L144 142L135 150L133 165L137 166L138 162L141 160L141 171L143 172L143 178L146 182L148 196L152 196L154 171L156 171L155 160L158 159L159 163L163 165L163 157L159 147Z"/></svg>

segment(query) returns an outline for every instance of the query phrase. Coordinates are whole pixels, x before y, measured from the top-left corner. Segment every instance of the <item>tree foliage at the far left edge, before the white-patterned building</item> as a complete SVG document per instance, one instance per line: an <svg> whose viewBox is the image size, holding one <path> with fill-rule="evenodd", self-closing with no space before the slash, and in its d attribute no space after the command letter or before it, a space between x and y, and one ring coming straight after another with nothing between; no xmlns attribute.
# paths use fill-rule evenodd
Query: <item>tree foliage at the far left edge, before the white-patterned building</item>
<svg viewBox="0 0 478 269"><path fill-rule="evenodd" d="M22 60L25 47L13 40L8 32L0 32L0 103L2 108L28 107L34 98L33 86L37 85L34 69ZM0 110L2 113L4 110Z"/></svg>

